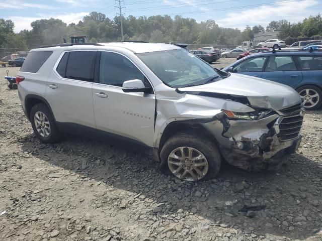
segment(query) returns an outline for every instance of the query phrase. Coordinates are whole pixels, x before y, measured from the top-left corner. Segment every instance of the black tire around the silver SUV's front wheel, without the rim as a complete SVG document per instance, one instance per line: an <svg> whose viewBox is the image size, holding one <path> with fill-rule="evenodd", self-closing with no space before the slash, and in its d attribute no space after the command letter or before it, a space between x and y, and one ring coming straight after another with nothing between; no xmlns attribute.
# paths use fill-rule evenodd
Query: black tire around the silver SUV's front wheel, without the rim
<svg viewBox="0 0 322 241"><path fill-rule="evenodd" d="M179 147L191 147L200 151L208 163L208 171L199 180L209 180L215 178L220 170L221 155L216 144L206 137L201 137L197 133L179 133L165 143L160 152L160 169L166 174L174 175L168 166L168 158L172 151Z"/></svg>

